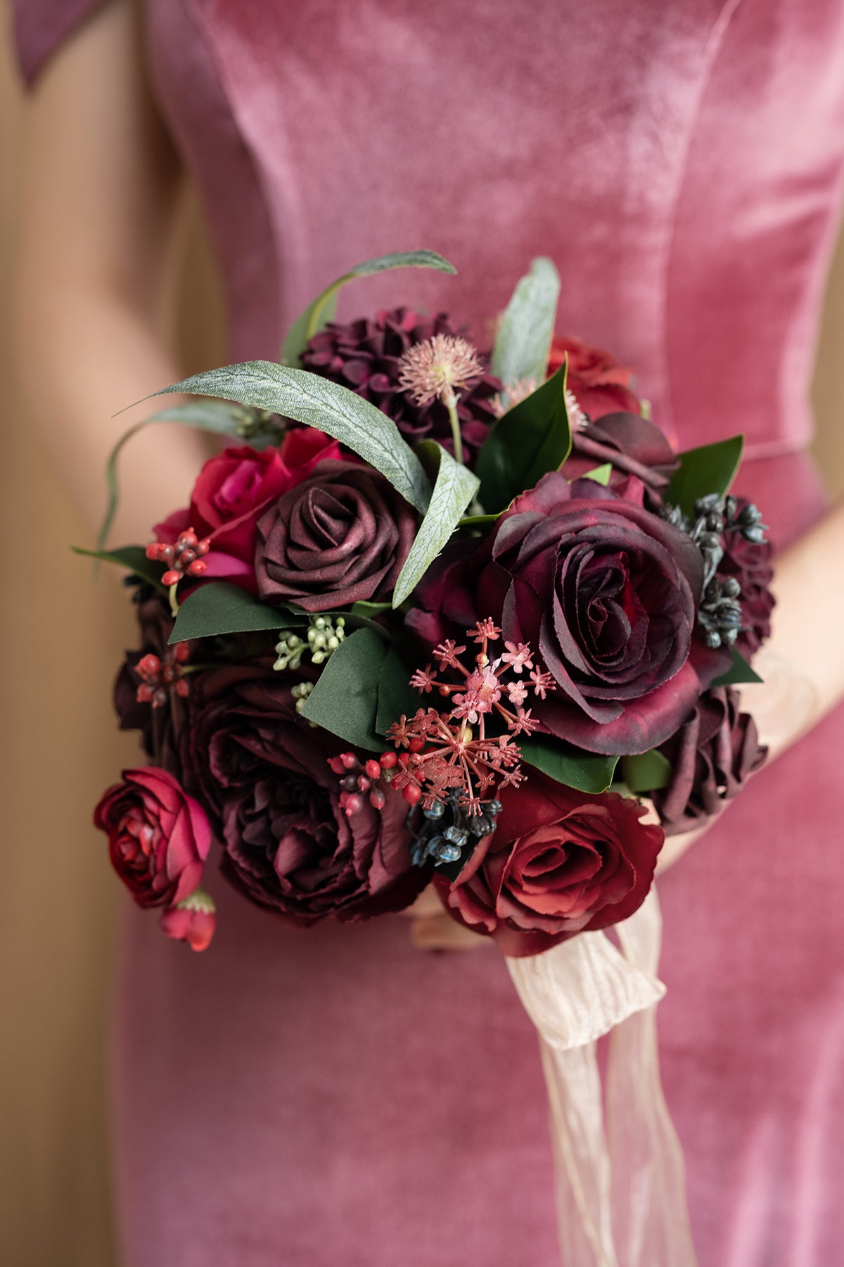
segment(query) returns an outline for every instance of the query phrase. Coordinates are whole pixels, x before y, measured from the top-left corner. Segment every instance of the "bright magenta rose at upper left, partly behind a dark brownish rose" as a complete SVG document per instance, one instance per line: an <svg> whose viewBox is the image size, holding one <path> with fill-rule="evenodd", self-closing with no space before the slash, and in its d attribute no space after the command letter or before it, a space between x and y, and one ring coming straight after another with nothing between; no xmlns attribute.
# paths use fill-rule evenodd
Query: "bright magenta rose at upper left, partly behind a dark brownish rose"
<svg viewBox="0 0 844 1267"><path fill-rule="evenodd" d="M204 579L227 579L254 592L258 519L282 493L307 479L324 457L339 456L337 441L314 427L289 431L280 447L224 449L199 473L190 507L158 523L156 537L173 542L192 527L199 537L211 541Z"/></svg>

